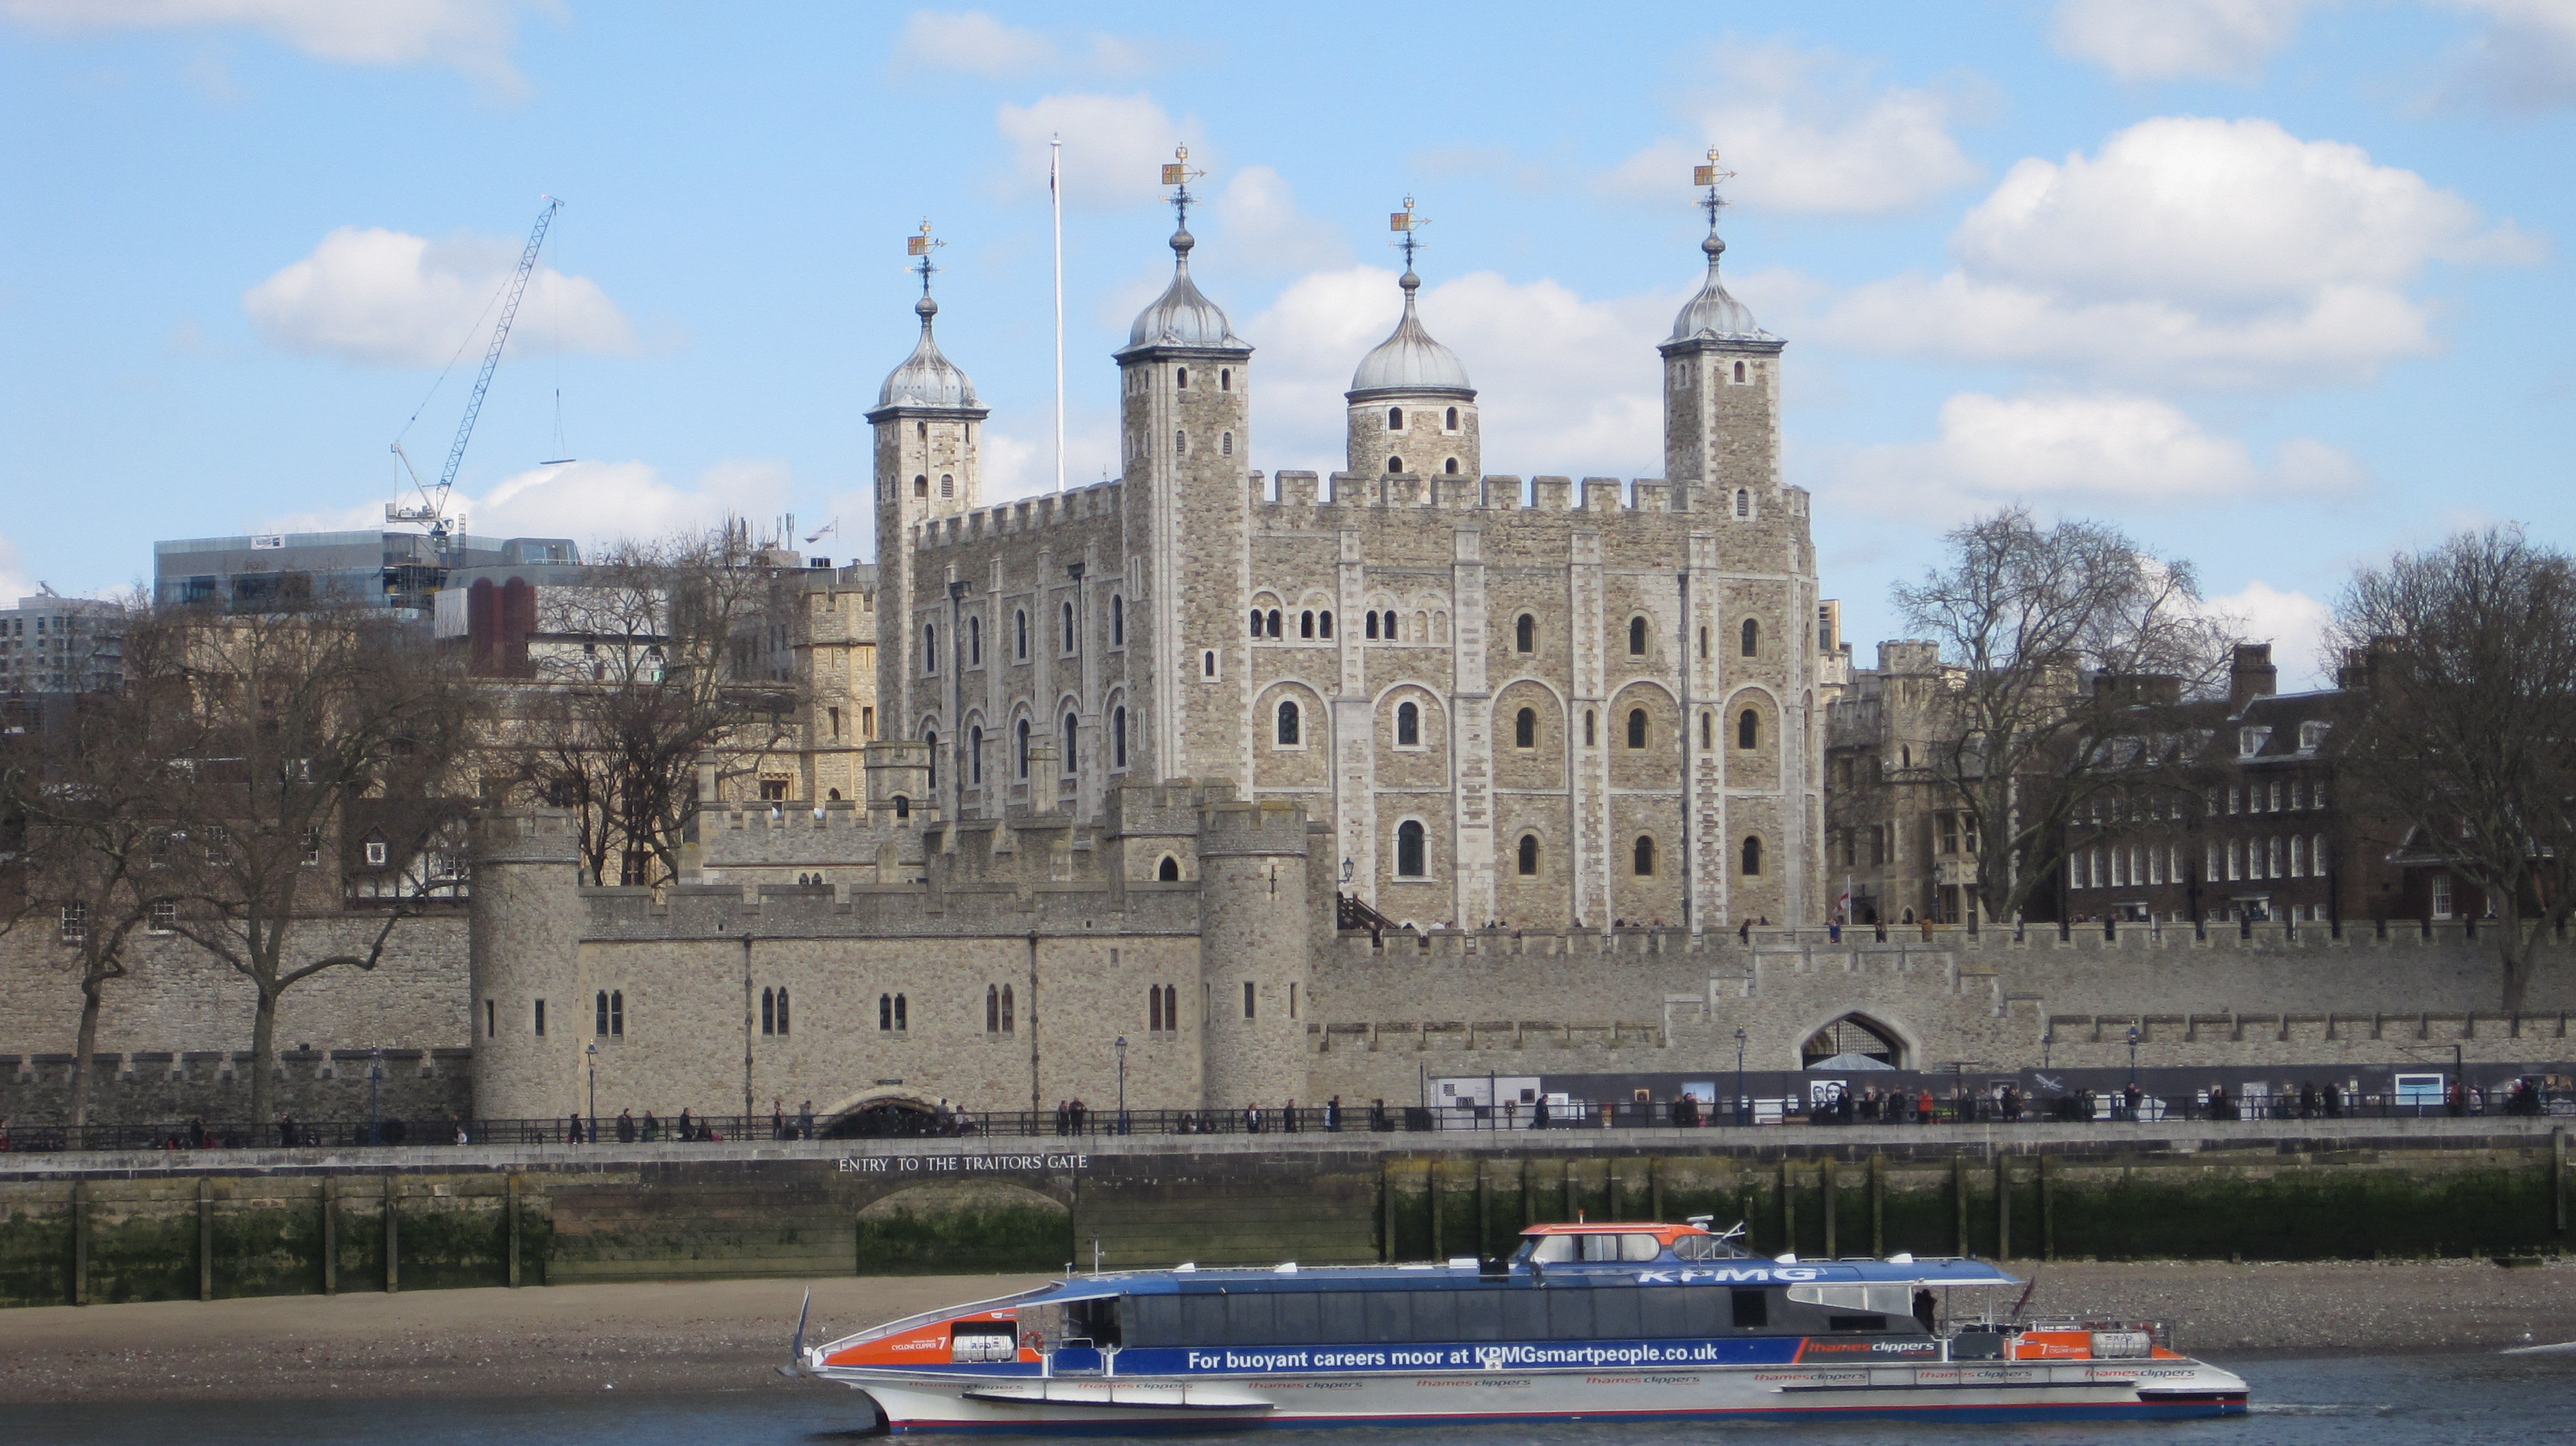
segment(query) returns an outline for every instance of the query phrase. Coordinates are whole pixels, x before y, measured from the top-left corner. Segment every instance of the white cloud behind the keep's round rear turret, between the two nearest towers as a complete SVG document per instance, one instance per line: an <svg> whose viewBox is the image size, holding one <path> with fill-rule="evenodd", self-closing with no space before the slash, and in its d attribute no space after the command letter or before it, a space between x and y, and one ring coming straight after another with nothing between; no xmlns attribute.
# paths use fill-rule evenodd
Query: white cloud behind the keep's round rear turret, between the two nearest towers
<svg viewBox="0 0 2576 1446"><path fill-rule="evenodd" d="M1556 281L1492 271L1422 291L1422 325L1466 361L1484 418L1484 469L1533 474L1656 474L1664 461L1664 335L1682 294L1587 299ZM1265 469L1340 472L1342 392L1368 348L1401 314L1396 273L1378 265L1316 271L1291 284L1249 325Z"/></svg>

